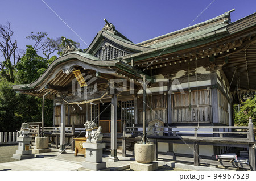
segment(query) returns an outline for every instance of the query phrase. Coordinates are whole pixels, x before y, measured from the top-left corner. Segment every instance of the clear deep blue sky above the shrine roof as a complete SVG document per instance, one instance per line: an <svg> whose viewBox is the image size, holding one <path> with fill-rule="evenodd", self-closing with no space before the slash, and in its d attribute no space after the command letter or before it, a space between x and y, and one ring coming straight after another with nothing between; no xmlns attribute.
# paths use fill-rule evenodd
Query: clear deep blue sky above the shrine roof
<svg viewBox="0 0 256 181"><path fill-rule="evenodd" d="M209 7L201 14L207 6ZM31 31L47 32L48 37L52 38L65 36L78 41L81 48L87 48L104 26L104 18L131 41L139 43L185 28L200 14L192 24L214 18L232 9L236 9L231 14L234 22L256 12L256 1L8 0L0 3L0 24L11 22L19 49L26 49L26 45L32 44L32 40L26 39Z"/></svg>

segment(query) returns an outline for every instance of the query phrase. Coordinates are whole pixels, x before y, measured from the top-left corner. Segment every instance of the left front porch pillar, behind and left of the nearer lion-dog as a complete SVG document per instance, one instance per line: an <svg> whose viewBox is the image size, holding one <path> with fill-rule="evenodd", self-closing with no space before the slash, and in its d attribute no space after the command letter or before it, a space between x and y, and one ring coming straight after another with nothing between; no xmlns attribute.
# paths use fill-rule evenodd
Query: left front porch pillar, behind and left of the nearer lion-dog
<svg viewBox="0 0 256 181"><path fill-rule="evenodd" d="M65 151L65 133L66 133L66 105L64 100L61 104L60 113L60 151L61 153L66 153Z"/></svg>

